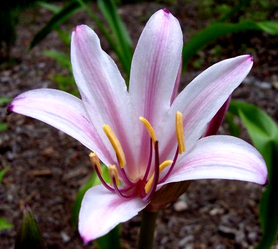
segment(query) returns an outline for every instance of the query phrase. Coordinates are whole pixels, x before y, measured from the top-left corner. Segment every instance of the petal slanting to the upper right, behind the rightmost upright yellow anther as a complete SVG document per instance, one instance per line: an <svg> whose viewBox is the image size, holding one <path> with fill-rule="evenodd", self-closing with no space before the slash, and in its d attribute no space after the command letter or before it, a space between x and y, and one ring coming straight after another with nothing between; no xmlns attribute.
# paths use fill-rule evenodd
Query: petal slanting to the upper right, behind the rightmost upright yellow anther
<svg viewBox="0 0 278 249"><path fill-rule="evenodd" d="M174 154L176 147L174 120L177 111L183 115L185 143L186 147L190 148L202 136L206 125L230 94L248 75L252 65L253 57L242 55L218 62L198 75L177 96L161 124L158 139L162 141L160 143L162 154Z"/></svg>

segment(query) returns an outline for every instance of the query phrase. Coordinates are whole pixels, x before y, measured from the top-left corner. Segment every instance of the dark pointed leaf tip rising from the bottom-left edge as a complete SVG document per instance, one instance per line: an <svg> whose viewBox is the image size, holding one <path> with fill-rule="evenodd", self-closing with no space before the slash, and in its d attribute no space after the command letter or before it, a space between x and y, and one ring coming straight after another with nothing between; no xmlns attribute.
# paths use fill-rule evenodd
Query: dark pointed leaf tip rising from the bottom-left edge
<svg viewBox="0 0 278 249"><path fill-rule="evenodd" d="M14 249L44 249L44 242L39 232L35 217L29 207L23 211L23 221L17 231Z"/></svg>

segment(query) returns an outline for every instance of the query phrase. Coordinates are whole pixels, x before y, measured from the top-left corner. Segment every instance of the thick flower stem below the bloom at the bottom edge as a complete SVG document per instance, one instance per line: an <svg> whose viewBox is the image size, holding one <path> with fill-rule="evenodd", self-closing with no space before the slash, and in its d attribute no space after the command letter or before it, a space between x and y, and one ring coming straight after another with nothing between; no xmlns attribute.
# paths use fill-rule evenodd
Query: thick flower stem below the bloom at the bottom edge
<svg viewBox="0 0 278 249"><path fill-rule="evenodd" d="M152 249L157 212L142 211L138 249Z"/></svg>

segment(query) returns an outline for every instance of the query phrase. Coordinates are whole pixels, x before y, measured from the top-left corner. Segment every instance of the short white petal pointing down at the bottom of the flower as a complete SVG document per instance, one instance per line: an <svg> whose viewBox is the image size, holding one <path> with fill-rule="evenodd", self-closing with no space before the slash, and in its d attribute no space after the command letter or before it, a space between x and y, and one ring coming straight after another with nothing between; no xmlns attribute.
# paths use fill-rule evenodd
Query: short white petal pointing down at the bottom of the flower
<svg viewBox="0 0 278 249"><path fill-rule="evenodd" d="M84 243L95 240L147 206L139 197L124 200L98 185L90 188L81 204L78 230Z"/></svg>

